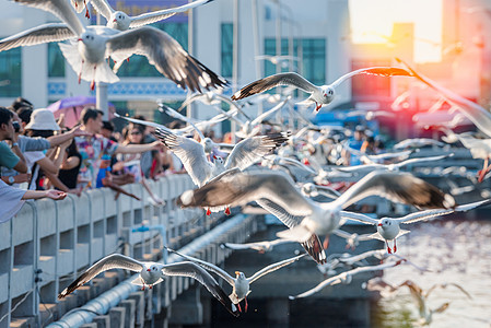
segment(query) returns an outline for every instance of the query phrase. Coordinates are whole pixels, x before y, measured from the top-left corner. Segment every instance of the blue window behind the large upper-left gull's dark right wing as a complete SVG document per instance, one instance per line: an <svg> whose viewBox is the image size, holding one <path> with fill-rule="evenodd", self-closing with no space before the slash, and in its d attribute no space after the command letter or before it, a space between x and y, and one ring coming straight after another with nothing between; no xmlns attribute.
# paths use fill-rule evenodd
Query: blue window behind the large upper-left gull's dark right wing
<svg viewBox="0 0 491 328"><path fill-rule="evenodd" d="M155 23L154 27L168 33L185 50L188 48L188 24L187 23ZM162 77L153 65L144 56L133 55L118 70L119 77L149 78Z"/></svg>

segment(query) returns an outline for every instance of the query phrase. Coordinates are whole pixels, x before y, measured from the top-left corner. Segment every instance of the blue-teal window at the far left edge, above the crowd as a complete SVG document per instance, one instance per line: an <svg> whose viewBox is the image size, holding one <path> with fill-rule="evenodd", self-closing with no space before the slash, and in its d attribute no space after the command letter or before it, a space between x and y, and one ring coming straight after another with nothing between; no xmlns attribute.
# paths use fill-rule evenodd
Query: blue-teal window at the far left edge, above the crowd
<svg viewBox="0 0 491 328"><path fill-rule="evenodd" d="M0 52L0 97L22 94L21 48Z"/></svg>

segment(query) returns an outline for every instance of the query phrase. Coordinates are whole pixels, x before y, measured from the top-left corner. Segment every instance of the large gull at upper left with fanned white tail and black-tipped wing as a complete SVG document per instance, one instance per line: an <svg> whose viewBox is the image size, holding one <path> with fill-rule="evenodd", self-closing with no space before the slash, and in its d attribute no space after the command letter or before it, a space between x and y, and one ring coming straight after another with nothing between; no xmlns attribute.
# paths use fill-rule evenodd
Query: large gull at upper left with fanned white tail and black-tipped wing
<svg viewBox="0 0 491 328"><path fill-rule="evenodd" d="M119 32L105 26L84 27L73 9L65 0L15 0L42 9L61 19L78 37L77 44L60 44L65 58L81 79L115 83L119 78L112 71L106 58L124 60L133 54L143 55L156 70L180 87L191 91L220 87L226 81L206 68L165 32L144 26ZM104 28L102 28L104 27Z"/></svg>

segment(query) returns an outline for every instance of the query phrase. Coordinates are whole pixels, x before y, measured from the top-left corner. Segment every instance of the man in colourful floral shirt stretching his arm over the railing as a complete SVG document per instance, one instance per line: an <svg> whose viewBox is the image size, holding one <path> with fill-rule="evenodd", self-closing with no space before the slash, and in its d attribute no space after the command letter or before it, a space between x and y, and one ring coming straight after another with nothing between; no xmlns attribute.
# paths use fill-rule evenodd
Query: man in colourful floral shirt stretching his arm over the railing
<svg viewBox="0 0 491 328"><path fill-rule="evenodd" d="M77 137L74 140L82 155L82 165L79 172L79 186L94 188L101 168L102 159L115 154L135 154L151 150L160 150L162 143L155 141L147 144L120 144L101 136L103 128L103 112L95 108L84 108L81 113L82 130L92 137ZM100 176L101 177L101 176ZM104 178L104 177L101 177Z"/></svg>

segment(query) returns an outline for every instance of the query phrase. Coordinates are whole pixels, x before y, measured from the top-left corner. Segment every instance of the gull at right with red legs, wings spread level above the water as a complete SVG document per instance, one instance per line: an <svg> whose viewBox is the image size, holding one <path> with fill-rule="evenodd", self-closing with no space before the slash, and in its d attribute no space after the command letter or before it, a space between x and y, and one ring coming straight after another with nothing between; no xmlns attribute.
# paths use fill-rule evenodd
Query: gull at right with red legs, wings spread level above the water
<svg viewBox="0 0 491 328"><path fill-rule="evenodd" d="M402 218L382 218L379 220L370 218L369 215L362 214L362 213L354 213L354 212L341 212L341 218L348 219L348 220L355 220L359 222L363 222L366 224L373 224L377 227L377 233L373 234L372 237L376 239L381 239L385 242L387 245L387 251L390 254L391 249L388 245L388 241L394 241L394 253L397 251L397 245L396 245L396 238L409 233L407 230L401 230L400 224L409 224L420 221L428 221L432 220L442 215L447 215L453 212L466 212L471 209L475 209L479 206L482 206L484 203L488 203L489 200L480 200L463 206L458 206L455 209L434 209L434 210L425 210L425 211L419 211L414 213L410 213L408 215L405 215Z"/></svg>

